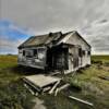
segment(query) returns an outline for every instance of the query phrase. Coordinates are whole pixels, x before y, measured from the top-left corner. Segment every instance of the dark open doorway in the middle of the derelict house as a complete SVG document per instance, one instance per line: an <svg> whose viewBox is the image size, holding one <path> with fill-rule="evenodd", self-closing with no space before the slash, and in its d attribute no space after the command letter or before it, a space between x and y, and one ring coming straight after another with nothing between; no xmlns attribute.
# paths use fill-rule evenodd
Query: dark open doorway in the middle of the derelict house
<svg viewBox="0 0 109 109"><path fill-rule="evenodd" d="M69 49L68 47L55 47L47 52L47 64L52 70L68 70L69 69Z"/></svg>

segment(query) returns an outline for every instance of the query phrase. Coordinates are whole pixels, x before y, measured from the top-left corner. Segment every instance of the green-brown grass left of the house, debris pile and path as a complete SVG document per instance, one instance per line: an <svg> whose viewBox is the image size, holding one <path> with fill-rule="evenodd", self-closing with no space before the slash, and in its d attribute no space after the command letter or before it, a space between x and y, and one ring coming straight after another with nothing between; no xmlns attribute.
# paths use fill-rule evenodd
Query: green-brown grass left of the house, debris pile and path
<svg viewBox="0 0 109 109"><path fill-rule="evenodd" d="M0 109L32 109L34 96L23 86L16 56L0 56Z"/></svg>

